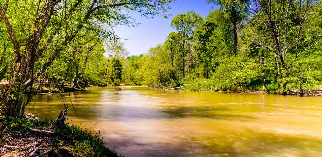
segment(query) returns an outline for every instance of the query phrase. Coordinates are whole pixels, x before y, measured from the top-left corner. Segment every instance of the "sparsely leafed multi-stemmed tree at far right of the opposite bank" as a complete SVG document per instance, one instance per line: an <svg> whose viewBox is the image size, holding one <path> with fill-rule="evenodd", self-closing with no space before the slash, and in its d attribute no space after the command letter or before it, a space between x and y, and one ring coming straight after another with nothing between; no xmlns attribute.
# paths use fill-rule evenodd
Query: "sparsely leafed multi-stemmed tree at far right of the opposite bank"
<svg viewBox="0 0 322 157"><path fill-rule="evenodd" d="M274 55L277 88L285 93L296 62L306 58L321 40L322 5L313 0L255 0L248 8L251 18L242 34Z"/></svg>

